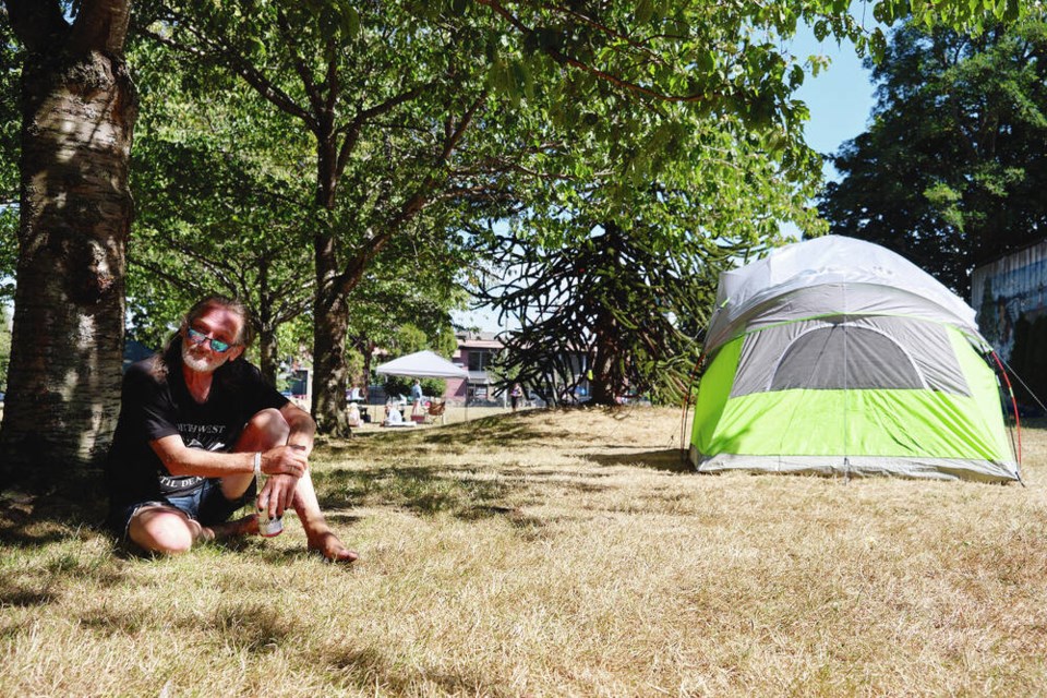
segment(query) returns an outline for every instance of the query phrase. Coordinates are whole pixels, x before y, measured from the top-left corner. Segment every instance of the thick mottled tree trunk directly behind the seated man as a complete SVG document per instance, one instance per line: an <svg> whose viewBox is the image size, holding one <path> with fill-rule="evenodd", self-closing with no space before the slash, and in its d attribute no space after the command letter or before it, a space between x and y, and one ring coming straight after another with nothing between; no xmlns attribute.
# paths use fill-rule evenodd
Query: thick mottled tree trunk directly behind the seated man
<svg viewBox="0 0 1047 698"><path fill-rule="evenodd" d="M120 407L137 99L113 53L36 52L23 69L22 115L0 461L16 479L56 482L56 473L99 462Z"/></svg>

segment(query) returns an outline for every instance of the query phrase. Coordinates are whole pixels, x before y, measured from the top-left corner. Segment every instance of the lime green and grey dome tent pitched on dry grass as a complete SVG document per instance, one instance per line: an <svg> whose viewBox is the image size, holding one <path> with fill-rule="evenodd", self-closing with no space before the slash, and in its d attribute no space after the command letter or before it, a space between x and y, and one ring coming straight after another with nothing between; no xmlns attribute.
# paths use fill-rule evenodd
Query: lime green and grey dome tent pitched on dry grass
<svg viewBox="0 0 1047 698"><path fill-rule="evenodd" d="M966 303L884 248L778 249L720 278L691 462L1018 480L988 349Z"/></svg>

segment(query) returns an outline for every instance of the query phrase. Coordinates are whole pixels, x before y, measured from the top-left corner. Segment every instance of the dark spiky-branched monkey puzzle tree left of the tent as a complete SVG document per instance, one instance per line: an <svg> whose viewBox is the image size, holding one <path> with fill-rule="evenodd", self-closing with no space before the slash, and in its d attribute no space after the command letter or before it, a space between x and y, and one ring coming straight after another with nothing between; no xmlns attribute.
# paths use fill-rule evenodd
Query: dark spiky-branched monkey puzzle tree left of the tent
<svg viewBox="0 0 1047 698"><path fill-rule="evenodd" d="M498 243L512 278L481 298L519 325L497 361L506 386L522 383L550 404L573 402L582 384L595 405L684 393L700 345L677 314L695 317L710 303L709 267L660 254L642 225L601 222L549 250L516 236Z"/></svg>

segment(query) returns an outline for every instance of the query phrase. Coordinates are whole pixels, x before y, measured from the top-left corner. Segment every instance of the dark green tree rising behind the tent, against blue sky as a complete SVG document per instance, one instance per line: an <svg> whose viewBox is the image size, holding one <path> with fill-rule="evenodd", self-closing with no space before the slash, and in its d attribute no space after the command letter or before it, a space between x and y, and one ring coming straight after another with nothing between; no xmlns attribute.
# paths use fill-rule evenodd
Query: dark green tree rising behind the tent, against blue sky
<svg viewBox="0 0 1047 698"><path fill-rule="evenodd" d="M1047 230L1047 24L898 29L872 125L832 158L819 208L963 297L971 269Z"/></svg>

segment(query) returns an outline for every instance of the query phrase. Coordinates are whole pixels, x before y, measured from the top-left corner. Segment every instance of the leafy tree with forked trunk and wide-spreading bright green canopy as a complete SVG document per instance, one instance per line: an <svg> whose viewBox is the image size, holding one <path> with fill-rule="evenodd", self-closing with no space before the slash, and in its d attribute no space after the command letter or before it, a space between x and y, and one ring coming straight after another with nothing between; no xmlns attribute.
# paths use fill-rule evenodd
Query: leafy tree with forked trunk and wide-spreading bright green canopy
<svg viewBox="0 0 1047 698"><path fill-rule="evenodd" d="M891 17L907 5L876 7ZM687 157L696 118L743 123L767 149L803 161L806 108L791 95L804 61L783 53L781 38L806 21L822 36L878 46L877 31L835 2L136 8L140 31L158 45L243 81L314 140L313 408L332 432L344 407L348 298L393 239L434 229L420 217L502 216L533 205L542 188L569 195L600 184L614 198L629 190L623 182L675 185L700 168ZM593 151L613 167L594 168Z"/></svg>

